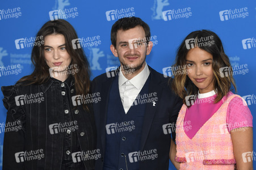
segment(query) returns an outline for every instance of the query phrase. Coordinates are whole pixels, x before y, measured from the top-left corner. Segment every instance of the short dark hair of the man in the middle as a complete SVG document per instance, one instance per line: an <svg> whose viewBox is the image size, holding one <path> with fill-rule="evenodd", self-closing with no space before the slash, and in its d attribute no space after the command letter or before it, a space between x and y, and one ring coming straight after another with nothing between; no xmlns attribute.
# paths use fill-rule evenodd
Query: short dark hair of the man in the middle
<svg viewBox="0 0 256 170"><path fill-rule="evenodd" d="M111 28L111 43L116 47L116 34L117 31L126 31L136 26L141 26L145 31L146 43L150 41L150 28L149 25L142 21L140 18L132 16L130 18L121 18L117 20Z"/></svg>

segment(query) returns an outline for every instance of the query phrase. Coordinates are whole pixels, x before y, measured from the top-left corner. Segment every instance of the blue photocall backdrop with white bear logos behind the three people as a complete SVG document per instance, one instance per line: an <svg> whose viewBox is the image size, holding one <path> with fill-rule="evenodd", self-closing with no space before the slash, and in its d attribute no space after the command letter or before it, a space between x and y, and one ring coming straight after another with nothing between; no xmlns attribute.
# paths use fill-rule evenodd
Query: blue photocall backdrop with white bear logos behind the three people
<svg viewBox="0 0 256 170"><path fill-rule="evenodd" d="M93 73L91 79L109 67L119 66L110 50L110 31L117 19L129 16L140 17L150 27L153 49L146 57L148 65L170 76L172 72L166 67L173 65L177 48L188 33L199 29L217 33L236 71L238 95L244 96L255 115L256 1L1 1L0 86L15 84L32 73L32 42L48 20L65 19L73 25L82 47L75 45L85 50ZM1 168L6 112L1 101ZM253 122L255 125L255 119ZM255 136L254 131L254 141ZM256 155L254 168L255 158ZM172 164L170 169L175 169Z"/></svg>

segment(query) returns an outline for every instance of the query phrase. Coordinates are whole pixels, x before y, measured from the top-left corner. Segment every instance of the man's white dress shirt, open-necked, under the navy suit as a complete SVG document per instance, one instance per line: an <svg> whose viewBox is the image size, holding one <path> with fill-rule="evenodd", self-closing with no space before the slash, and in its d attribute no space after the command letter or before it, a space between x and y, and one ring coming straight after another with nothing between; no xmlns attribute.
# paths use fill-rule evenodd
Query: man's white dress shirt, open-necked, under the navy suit
<svg viewBox="0 0 256 170"><path fill-rule="evenodd" d="M125 114L127 114L129 108L131 108L133 104L133 101L135 101L136 97L139 95L142 87L148 79L149 74L150 70L147 64L145 65L144 69L131 80L125 78L120 69L118 78L119 94L123 103Z"/></svg>

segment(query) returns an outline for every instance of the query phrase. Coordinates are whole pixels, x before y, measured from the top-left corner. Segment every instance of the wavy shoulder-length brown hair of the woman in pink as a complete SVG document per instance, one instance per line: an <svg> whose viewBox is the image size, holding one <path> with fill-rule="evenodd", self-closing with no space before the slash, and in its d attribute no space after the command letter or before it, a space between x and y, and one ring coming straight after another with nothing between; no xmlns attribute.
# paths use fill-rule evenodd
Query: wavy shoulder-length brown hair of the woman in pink
<svg viewBox="0 0 256 170"><path fill-rule="evenodd" d="M208 42L211 41L210 44L202 44L202 37L205 41ZM187 46L187 41L190 41L189 39L193 40L194 47L193 46ZM199 41L201 39L201 41ZM186 41L187 40L187 41ZM205 42L204 41L204 42ZM181 43L181 45L178 48L177 56L175 59L175 64L173 68L178 68L175 70L174 73L174 80L172 82L172 88L178 94L182 99L183 103L185 102L185 97L190 95L196 95L198 94L198 87L195 86L194 83L188 78L187 74L179 74L180 71L183 71L183 73L187 73L186 70L186 56L190 48L200 48L202 50L205 50L205 52L208 52L212 54L213 57L213 63L212 63L212 69L213 74L215 75L215 80L213 81L213 87L214 90L217 93L217 97L215 99L215 103L220 101L230 90L231 84L233 84L234 89L236 91L236 84L234 82L232 69L230 70L231 74L229 76L224 76L224 78L220 75L220 68L221 67L231 67L229 58L224 53L223 45L220 40L220 38L216 35L216 33L208 30L202 30L202 31L194 31L191 32ZM181 67L183 66L183 67ZM186 70L186 72L184 72ZM189 107L189 106L188 106Z"/></svg>

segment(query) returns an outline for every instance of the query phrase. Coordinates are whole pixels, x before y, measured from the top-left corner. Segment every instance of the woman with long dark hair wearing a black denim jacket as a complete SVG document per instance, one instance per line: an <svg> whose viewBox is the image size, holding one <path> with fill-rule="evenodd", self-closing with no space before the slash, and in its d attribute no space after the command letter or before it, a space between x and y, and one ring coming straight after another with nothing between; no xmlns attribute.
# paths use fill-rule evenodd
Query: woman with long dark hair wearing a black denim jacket
<svg viewBox="0 0 256 170"><path fill-rule="evenodd" d="M90 67L77 33L65 20L49 21L36 37L35 69L14 86L2 87L7 111L3 169L94 169L95 121L90 103ZM36 41L41 41L37 39Z"/></svg>

